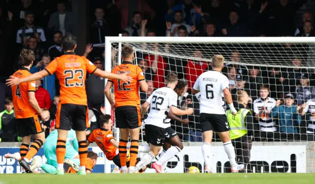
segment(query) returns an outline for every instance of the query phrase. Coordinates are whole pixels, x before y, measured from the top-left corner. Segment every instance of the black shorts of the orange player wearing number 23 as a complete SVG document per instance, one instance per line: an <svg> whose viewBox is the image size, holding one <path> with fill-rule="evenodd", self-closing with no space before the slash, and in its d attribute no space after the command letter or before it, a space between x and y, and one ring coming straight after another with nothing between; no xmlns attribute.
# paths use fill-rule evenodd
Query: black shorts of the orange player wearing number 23
<svg viewBox="0 0 315 184"><path fill-rule="evenodd" d="M56 113L56 129L85 131L89 125L89 111L86 105L59 103Z"/></svg>

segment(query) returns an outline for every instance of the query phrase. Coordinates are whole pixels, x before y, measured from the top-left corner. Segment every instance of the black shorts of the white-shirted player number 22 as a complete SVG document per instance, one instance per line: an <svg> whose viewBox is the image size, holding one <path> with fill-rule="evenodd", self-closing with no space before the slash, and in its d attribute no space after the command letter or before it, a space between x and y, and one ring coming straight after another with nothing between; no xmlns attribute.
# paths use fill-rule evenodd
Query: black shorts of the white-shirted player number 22
<svg viewBox="0 0 315 184"><path fill-rule="evenodd" d="M145 133L149 144L154 146L163 145L165 140L165 129L154 125L145 125Z"/></svg>

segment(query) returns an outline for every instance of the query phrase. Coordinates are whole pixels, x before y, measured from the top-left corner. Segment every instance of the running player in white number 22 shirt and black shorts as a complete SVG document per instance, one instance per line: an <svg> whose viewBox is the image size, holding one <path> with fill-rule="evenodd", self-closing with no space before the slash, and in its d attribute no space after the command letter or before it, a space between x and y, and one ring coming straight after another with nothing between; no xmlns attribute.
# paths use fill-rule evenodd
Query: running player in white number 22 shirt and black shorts
<svg viewBox="0 0 315 184"><path fill-rule="evenodd" d="M150 106L150 112L145 124L146 138L147 142L150 144L150 152L137 163L135 170L132 170L132 172L138 172L143 166L148 165L155 157L158 156L162 144L164 143L165 128L167 128L165 119L169 112L174 115L187 115L192 114L193 112L192 108L181 110L176 107L178 95L175 93L174 88L177 84L177 75L170 73L167 75L166 80L167 86L155 90L147 101L141 105L142 117ZM165 153L165 160L172 158L174 156L172 154L173 153L171 152L168 154ZM156 166L158 167L158 165ZM161 172L161 166L155 169Z"/></svg>

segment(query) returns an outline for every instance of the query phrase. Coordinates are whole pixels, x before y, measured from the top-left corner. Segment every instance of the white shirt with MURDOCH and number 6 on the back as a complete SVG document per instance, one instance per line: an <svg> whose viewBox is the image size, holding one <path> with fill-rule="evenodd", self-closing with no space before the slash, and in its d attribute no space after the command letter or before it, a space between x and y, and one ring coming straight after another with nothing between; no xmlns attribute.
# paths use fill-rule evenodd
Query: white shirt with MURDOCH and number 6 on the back
<svg viewBox="0 0 315 184"><path fill-rule="evenodd" d="M200 90L200 113L225 114L223 89L229 88L226 76L218 71L201 74L193 85Z"/></svg>

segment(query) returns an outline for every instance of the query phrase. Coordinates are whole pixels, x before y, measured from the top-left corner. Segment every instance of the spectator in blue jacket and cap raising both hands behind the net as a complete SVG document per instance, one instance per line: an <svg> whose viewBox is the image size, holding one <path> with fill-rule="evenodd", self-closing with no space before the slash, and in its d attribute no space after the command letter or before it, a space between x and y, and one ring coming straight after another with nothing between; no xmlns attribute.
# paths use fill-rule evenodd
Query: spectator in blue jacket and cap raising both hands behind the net
<svg viewBox="0 0 315 184"><path fill-rule="evenodd" d="M301 114L306 105L294 106L294 96L288 93L284 97L284 105L278 100L272 108L270 117L279 118L280 136L284 140L297 140Z"/></svg>

